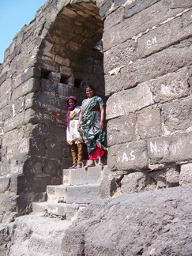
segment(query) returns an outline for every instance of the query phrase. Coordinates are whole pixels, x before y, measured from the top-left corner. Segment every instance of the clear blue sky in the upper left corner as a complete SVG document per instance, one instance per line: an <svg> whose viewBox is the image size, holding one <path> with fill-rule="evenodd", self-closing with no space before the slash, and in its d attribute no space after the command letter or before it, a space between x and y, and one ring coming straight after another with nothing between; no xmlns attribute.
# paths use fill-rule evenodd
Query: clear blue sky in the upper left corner
<svg viewBox="0 0 192 256"><path fill-rule="evenodd" d="M0 63L13 37L24 24L32 21L45 2L47 0L0 0Z"/></svg>

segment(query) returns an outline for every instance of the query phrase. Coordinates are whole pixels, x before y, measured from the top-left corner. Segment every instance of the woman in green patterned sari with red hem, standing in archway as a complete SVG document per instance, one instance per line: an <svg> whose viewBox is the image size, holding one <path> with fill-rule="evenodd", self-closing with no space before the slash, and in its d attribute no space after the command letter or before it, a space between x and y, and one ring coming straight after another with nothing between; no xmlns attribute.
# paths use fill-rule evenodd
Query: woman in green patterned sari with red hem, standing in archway
<svg viewBox="0 0 192 256"><path fill-rule="evenodd" d="M87 99L82 101L79 115L78 129L81 130L88 149L89 164L85 167L95 166L95 161L103 166L102 157L106 154L104 147L104 101L96 96L92 85L86 87Z"/></svg>

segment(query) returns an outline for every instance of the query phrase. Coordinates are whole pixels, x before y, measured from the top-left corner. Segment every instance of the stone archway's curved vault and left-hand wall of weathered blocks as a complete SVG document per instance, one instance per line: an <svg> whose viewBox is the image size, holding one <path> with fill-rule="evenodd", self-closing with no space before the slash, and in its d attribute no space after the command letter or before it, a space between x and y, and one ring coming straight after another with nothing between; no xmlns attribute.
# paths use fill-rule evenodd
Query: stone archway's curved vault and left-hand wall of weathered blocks
<svg viewBox="0 0 192 256"><path fill-rule="evenodd" d="M47 2L2 63L2 211L26 213L48 184L61 183L70 153L65 126L53 113L65 115L66 97L81 102L88 82L104 95L103 53L96 48L104 26L99 9L95 1L68 2Z"/></svg>

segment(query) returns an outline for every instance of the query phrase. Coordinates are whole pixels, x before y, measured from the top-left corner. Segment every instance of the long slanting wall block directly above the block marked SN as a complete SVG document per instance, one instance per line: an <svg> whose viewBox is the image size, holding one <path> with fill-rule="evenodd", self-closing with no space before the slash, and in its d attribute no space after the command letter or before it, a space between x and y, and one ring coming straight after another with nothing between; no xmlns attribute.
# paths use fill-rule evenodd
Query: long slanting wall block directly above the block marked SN
<svg viewBox="0 0 192 256"><path fill-rule="evenodd" d="M171 4L172 6L178 6L176 0L172 1ZM190 0L186 1L186 4L190 6ZM182 9L186 9L185 6ZM104 51L130 40L134 36L137 38L139 34L146 32L147 29L159 25L168 18L175 17L180 12L180 8L170 8L167 2L156 2L149 8L104 31Z"/></svg>

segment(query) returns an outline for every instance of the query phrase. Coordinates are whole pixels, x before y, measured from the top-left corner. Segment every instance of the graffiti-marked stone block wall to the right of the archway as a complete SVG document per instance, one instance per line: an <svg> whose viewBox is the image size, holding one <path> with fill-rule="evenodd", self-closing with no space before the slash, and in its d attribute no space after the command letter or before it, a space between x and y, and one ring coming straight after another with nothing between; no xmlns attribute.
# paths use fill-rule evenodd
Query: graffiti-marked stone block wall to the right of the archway
<svg viewBox="0 0 192 256"><path fill-rule="evenodd" d="M192 161L191 1L107 1L100 12L108 167L140 172L159 186L168 186L169 171L179 185Z"/></svg>

